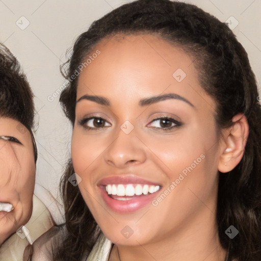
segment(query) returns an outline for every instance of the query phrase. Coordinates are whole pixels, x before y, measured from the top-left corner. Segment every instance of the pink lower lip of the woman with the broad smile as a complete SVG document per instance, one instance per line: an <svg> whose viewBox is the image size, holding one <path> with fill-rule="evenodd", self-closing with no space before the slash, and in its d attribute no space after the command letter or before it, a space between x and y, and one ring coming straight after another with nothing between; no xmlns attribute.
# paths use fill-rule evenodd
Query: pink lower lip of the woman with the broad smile
<svg viewBox="0 0 261 261"><path fill-rule="evenodd" d="M150 195L144 195L142 197L137 197L129 200L117 200L111 198L103 188L100 187L101 195L106 204L111 208L111 210L118 213L131 213L140 210L142 207L149 204L155 197L157 192Z"/></svg>

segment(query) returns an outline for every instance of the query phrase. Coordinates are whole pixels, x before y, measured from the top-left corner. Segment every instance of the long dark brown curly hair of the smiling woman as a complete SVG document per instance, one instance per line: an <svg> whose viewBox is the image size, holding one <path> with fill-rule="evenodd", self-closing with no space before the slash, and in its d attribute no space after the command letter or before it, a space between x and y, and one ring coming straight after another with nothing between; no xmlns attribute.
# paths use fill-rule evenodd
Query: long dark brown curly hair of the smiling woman
<svg viewBox="0 0 261 261"><path fill-rule="evenodd" d="M169 0L139 0L94 21L73 46L65 64L67 87L60 96L72 125L75 120L77 77L70 76L102 39L115 34L153 34L186 51L194 60L201 87L217 103L219 129L232 125L243 113L249 124L244 156L229 173L219 173L216 222L226 260L261 260L261 110L255 76L247 53L225 23L200 8ZM74 173L71 160L61 180L65 205L65 233L55 260L80 260L90 253L99 228L78 187L68 184ZM225 230L233 224L240 236L230 240Z"/></svg>

